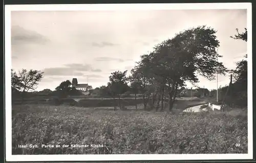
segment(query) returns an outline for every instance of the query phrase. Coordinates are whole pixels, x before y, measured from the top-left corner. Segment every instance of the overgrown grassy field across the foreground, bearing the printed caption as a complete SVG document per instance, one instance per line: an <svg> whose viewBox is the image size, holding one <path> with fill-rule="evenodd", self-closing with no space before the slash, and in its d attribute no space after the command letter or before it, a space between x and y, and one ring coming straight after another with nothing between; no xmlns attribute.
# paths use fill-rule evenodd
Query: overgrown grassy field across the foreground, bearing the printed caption
<svg viewBox="0 0 256 163"><path fill-rule="evenodd" d="M38 148L18 147L26 144ZM54 147L41 147L42 144ZM247 114L236 110L181 115L97 107L14 105L12 153L247 153Z"/></svg>

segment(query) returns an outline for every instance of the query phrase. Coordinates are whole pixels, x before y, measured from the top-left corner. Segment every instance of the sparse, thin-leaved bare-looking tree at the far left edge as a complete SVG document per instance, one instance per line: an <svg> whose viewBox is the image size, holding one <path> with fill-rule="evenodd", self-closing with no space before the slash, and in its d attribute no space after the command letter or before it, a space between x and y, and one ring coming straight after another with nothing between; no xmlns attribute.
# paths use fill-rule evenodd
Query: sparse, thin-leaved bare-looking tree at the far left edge
<svg viewBox="0 0 256 163"><path fill-rule="evenodd" d="M26 69L22 69L21 71L18 71L18 78L19 78L19 85L20 90L23 92L22 97L24 98L25 93L35 90L38 86L38 83L42 79L42 74L44 72L38 71L38 70L32 70L29 71Z"/></svg>

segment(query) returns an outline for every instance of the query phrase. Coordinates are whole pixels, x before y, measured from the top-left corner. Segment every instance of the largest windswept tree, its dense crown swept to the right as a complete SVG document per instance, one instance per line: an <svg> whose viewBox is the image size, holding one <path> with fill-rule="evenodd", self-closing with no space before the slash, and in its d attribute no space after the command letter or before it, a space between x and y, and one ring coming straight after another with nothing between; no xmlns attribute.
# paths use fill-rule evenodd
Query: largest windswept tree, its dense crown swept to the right
<svg viewBox="0 0 256 163"><path fill-rule="evenodd" d="M206 26L185 30L156 45L153 52L143 57L141 65L168 92L169 111L178 88L184 87L185 82L198 83L198 75L215 79L217 67L220 74L225 74L226 68L217 61L219 41L216 32Z"/></svg>

